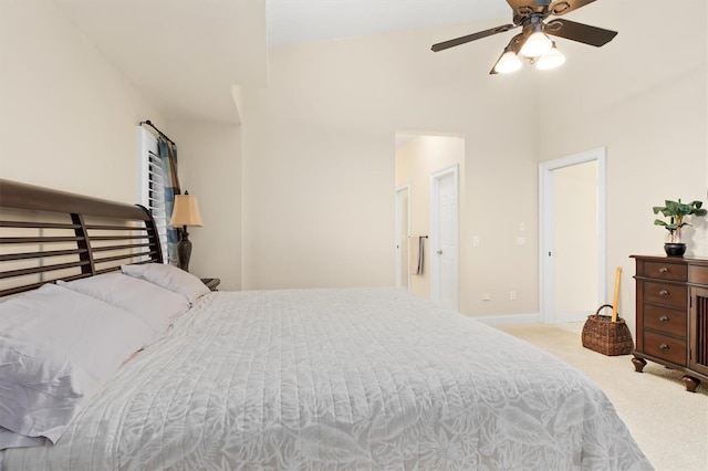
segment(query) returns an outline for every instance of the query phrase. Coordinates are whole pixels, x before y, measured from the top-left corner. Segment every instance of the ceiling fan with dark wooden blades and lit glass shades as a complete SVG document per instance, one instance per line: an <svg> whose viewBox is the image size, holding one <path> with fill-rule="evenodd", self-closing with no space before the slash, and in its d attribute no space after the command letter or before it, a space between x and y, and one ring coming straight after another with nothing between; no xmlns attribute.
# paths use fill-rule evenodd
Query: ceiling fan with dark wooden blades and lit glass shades
<svg viewBox="0 0 708 471"><path fill-rule="evenodd" d="M521 69L519 56L529 59L537 69L554 69L565 62L565 56L555 48L555 41L549 35L564 38L572 41L600 48L617 35L616 31L558 19L544 20L551 15L560 17L595 0L507 0L513 10L513 24L504 24L489 30L479 31L461 38L433 44L433 51L438 52L470 41L487 38L492 34L504 33L521 27L521 32L511 38L509 44L489 72L490 74L509 73Z"/></svg>

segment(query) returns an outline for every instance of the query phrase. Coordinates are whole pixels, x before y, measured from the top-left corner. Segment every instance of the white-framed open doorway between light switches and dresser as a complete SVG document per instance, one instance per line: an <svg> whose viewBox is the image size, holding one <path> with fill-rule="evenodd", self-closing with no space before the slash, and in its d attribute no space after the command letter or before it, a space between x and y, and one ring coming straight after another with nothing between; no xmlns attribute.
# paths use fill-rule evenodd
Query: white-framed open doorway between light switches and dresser
<svg viewBox="0 0 708 471"><path fill-rule="evenodd" d="M605 302L605 149L539 167L541 322L582 321Z"/></svg>

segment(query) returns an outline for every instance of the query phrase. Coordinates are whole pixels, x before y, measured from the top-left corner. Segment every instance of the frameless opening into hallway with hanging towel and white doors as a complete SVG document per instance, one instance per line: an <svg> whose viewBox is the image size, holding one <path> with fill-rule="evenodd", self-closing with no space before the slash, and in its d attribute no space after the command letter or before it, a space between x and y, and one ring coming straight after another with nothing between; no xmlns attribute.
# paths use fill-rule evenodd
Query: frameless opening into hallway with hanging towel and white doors
<svg viewBox="0 0 708 471"><path fill-rule="evenodd" d="M407 266L409 291L454 310L460 305L464 168L462 137L396 134L396 282L405 285L400 271ZM406 193L408 243L402 250L406 247L399 239Z"/></svg>

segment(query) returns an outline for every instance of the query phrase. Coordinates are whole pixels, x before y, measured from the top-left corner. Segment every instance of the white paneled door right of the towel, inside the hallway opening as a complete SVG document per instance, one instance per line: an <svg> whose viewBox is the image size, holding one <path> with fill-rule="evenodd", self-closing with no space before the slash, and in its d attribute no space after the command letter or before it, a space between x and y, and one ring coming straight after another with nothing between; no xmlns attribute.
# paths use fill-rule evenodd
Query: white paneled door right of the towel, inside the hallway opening
<svg viewBox="0 0 708 471"><path fill-rule="evenodd" d="M459 310L458 167L430 178L430 297Z"/></svg>

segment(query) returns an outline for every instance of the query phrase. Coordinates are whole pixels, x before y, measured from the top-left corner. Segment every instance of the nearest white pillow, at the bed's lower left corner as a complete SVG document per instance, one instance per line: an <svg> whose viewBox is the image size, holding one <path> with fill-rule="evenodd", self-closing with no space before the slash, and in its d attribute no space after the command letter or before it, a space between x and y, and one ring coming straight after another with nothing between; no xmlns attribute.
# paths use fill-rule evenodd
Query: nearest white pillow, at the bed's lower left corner
<svg viewBox="0 0 708 471"><path fill-rule="evenodd" d="M53 284L0 303L0 427L55 442L153 336L137 316Z"/></svg>

